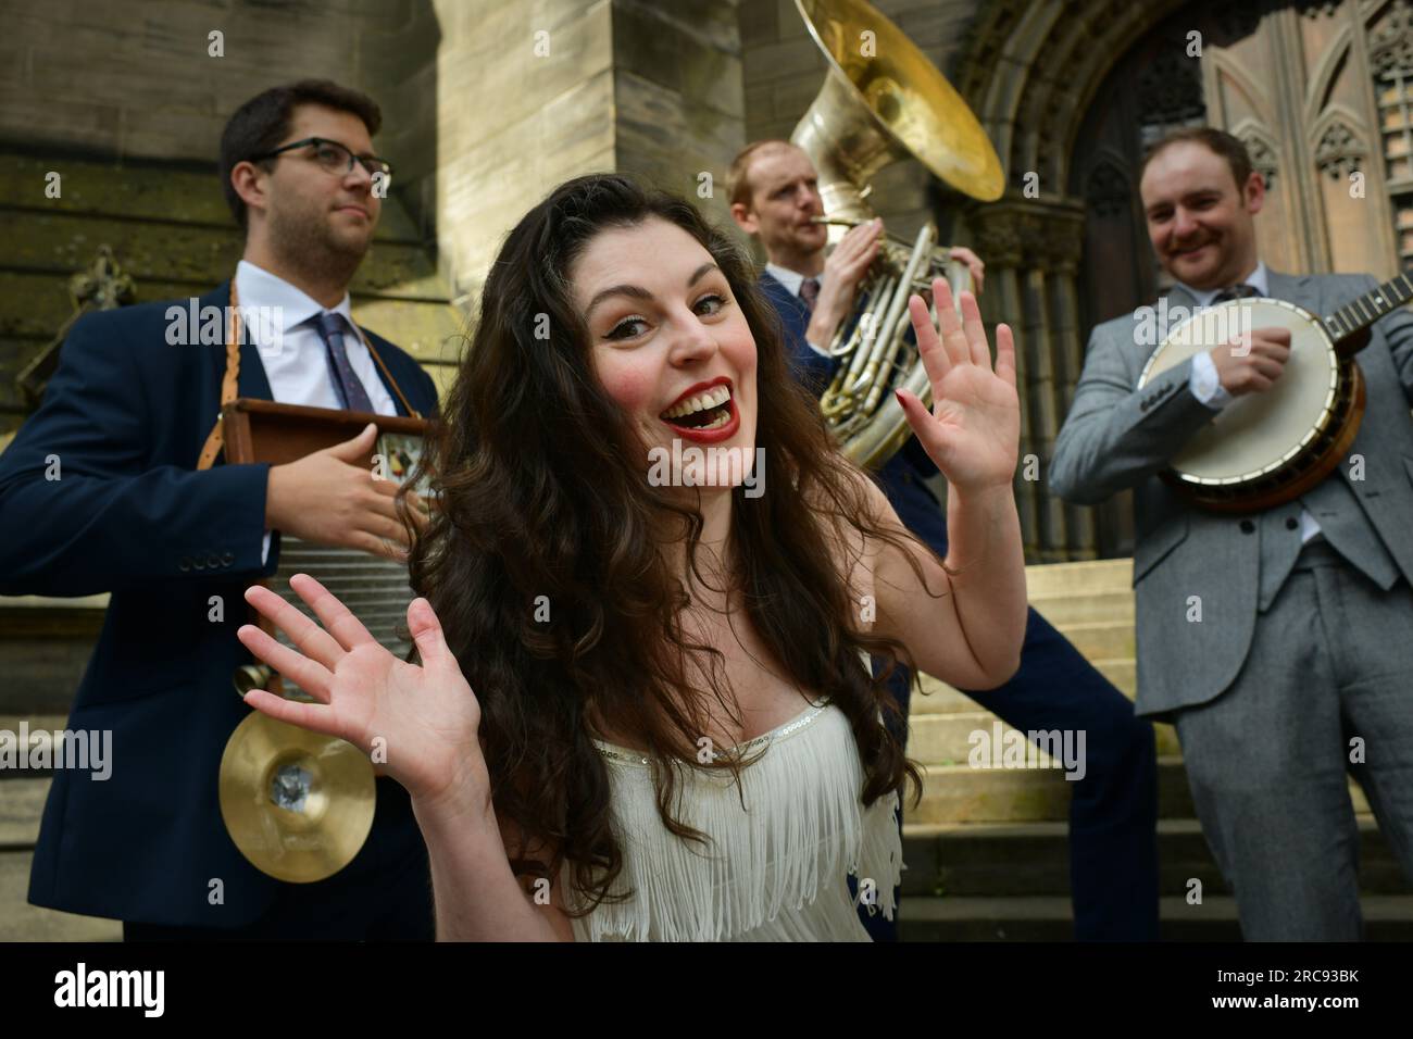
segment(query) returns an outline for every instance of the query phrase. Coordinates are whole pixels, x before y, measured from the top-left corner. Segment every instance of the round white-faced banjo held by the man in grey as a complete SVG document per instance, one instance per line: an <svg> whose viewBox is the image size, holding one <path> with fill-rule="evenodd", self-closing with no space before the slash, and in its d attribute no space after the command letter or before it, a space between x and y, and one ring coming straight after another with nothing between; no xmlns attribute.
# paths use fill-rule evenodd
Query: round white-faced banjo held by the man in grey
<svg viewBox="0 0 1413 1039"><path fill-rule="evenodd" d="M1217 512L1259 512L1308 492L1359 433L1365 386L1354 355L1368 345L1369 325L1410 300L1413 280L1399 274L1324 318L1258 297L1200 308L1176 325L1143 366L1137 389L1255 328L1287 329L1290 358L1269 390L1236 397L1183 444L1163 479Z"/></svg>

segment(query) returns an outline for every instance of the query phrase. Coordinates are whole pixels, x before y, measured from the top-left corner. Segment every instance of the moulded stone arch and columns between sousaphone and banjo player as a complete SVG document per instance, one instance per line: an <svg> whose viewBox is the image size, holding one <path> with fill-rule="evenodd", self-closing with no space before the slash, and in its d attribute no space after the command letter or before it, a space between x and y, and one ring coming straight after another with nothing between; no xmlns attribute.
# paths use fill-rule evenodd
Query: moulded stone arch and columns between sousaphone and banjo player
<svg viewBox="0 0 1413 1039"><path fill-rule="evenodd" d="M1075 507L1044 489L1084 358L1077 277L1087 216L1129 205L1125 170L1113 165L1099 185L1108 192L1085 198L1070 191L1070 160L1109 69L1181 7L1183 0L999 0L978 16L958 62L957 88L1009 174L1005 196L964 219L988 263L988 319L1013 321L1022 334L1022 457L1036 455L1041 475L1016 488L1031 563L1095 558L1115 541L1101 544L1104 519L1128 512L1125 502Z"/></svg>

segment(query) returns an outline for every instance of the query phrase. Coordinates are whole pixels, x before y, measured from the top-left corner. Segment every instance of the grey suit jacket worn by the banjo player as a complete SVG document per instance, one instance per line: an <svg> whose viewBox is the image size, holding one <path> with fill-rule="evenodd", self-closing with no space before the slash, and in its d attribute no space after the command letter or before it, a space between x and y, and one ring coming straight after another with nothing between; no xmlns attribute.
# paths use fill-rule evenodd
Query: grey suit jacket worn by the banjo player
<svg viewBox="0 0 1413 1039"><path fill-rule="evenodd" d="M1269 290L1327 315L1376 284L1368 276L1270 271ZM1194 304L1181 288L1167 297L1169 307ZM1156 348L1146 336L1136 341L1139 328L1135 312L1089 336L1074 404L1056 440L1050 491L1096 505L1133 488L1137 712L1164 717L1217 697L1241 670L1256 625L1260 524L1191 506L1157 476L1217 411L1188 389L1191 360L1135 389ZM1164 329L1157 331L1161 342ZM1349 488L1413 582L1413 314L1399 310L1375 324L1358 360L1368 403L1349 454L1364 455L1365 478ZM1341 465L1330 479L1348 479L1349 468ZM1193 595L1201 597L1200 623L1187 621Z"/></svg>

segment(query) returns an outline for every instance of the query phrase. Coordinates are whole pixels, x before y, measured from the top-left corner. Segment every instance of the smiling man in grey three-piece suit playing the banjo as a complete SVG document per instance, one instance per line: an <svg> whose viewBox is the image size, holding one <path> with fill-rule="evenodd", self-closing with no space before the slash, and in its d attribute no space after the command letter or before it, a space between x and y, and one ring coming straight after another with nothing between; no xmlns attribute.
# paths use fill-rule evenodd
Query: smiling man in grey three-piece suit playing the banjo
<svg viewBox="0 0 1413 1039"><path fill-rule="evenodd" d="M1169 311L1255 294L1325 315L1376 284L1260 263L1265 185L1231 134L1164 139L1139 189L1177 283ZM1359 939L1347 770L1413 879L1413 315L1381 319L1358 353L1368 403L1349 457L1246 516L1195 507L1157 474L1234 397L1275 385L1289 331L1253 329L1249 352L1200 352L1136 390L1163 338L1142 335L1145 317L1094 329L1051 488L1077 505L1133 488L1137 712L1177 727L1245 937Z"/></svg>

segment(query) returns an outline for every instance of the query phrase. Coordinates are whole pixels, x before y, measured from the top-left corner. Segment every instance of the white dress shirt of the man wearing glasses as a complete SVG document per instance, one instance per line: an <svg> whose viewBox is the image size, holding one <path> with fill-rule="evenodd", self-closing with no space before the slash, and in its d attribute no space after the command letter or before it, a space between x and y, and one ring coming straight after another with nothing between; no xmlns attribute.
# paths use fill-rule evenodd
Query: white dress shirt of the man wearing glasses
<svg viewBox="0 0 1413 1039"><path fill-rule="evenodd" d="M342 407L329 373L328 349L314 321L324 312L324 307L284 278L247 260L236 264L236 297L242 311L257 307L263 315L260 321L246 322L246 327L270 380L270 396L280 404ZM393 396L377 375L373 355L363 345L362 336L353 331L348 293L329 312L343 318L343 346L348 349L349 365L363 383L373 410L377 414L397 414ZM278 339L270 335L274 328L280 329ZM268 554L267 530L260 548L260 561L264 563Z"/></svg>

